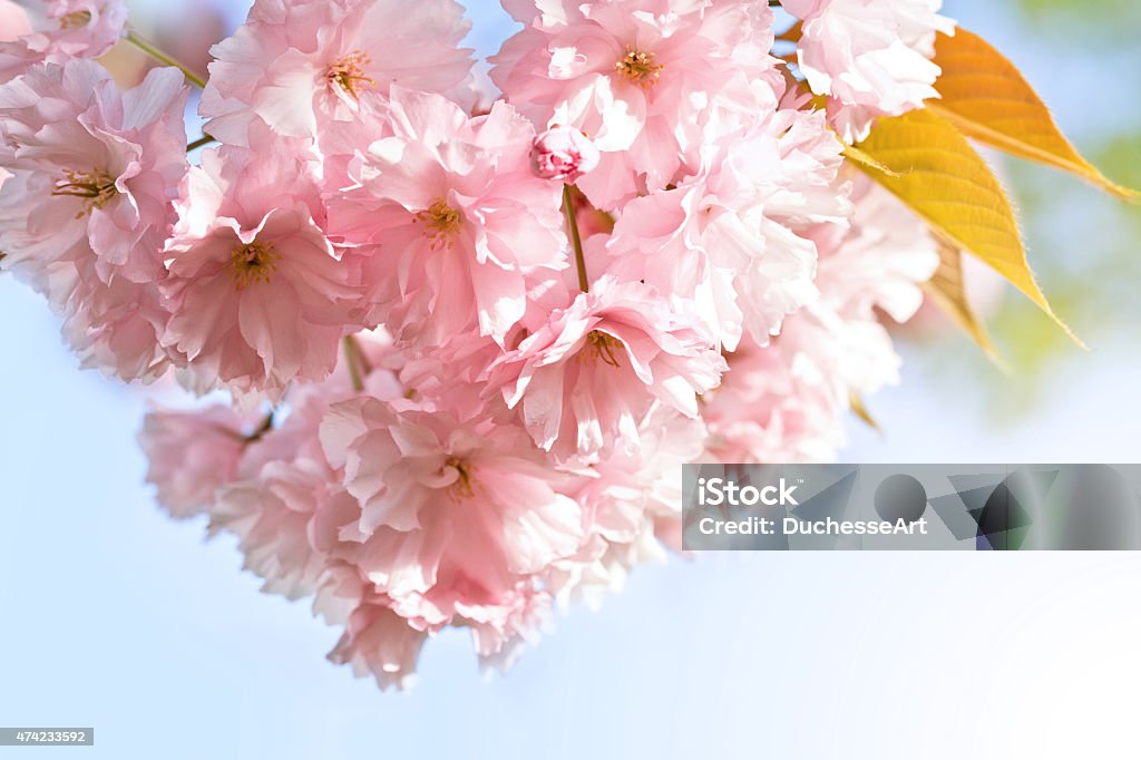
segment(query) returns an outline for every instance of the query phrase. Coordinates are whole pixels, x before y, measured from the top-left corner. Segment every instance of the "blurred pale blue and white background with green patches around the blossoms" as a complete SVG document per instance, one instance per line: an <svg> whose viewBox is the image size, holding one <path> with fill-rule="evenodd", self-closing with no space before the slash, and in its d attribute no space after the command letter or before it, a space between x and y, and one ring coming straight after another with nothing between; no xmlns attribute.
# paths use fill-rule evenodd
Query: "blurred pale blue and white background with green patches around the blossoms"
<svg viewBox="0 0 1141 760"><path fill-rule="evenodd" d="M136 0L199 71L240 0ZM511 32L466 3L484 55ZM1141 3L947 0L1063 130L1141 186ZM145 64L116 51L129 76ZM192 128L193 131L193 128ZM1092 347L987 286L1009 374L938 318L904 382L851 423L849 461L1141 461L1141 213L1003 163L1043 289ZM97 758L1125 758L1136 755L1136 555L704 555L634 573L508 677L463 633L382 694L322 656L337 632L258 592L234 543L160 515L135 432L146 395L81 373L30 290L0 278L0 725L95 726ZM0 754L32 752L0 747Z"/></svg>

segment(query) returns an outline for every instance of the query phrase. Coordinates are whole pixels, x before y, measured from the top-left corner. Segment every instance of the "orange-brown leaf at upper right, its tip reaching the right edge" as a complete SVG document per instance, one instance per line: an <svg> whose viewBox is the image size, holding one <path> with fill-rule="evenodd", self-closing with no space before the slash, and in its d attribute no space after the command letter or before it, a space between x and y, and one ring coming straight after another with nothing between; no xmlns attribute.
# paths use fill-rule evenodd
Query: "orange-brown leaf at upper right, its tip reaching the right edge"
<svg viewBox="0 0 1141 760"><path fill-rule="evenodd" d="M934 62L942 75L934 88L942 97L926 106L964 135L1012 155L1038 161L1128 201L1139 193L1102 175L1082 157L1050 110L1018 68L978 34L960 29L939 34Z"/></svg>

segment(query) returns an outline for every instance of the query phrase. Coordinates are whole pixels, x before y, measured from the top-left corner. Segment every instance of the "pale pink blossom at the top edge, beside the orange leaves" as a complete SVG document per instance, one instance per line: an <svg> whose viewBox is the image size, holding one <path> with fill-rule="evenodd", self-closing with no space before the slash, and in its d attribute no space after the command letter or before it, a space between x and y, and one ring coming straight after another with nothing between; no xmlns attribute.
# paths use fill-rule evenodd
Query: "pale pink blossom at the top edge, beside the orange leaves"
<svg viewBox="0 0 1141 760"><path fill-rule="evenodd" d="M880 116L937 98L937 32L955 33L942 0L782 0L803 21L800 70L828 96L828 119L847 143L867 137Z"/></svg>

